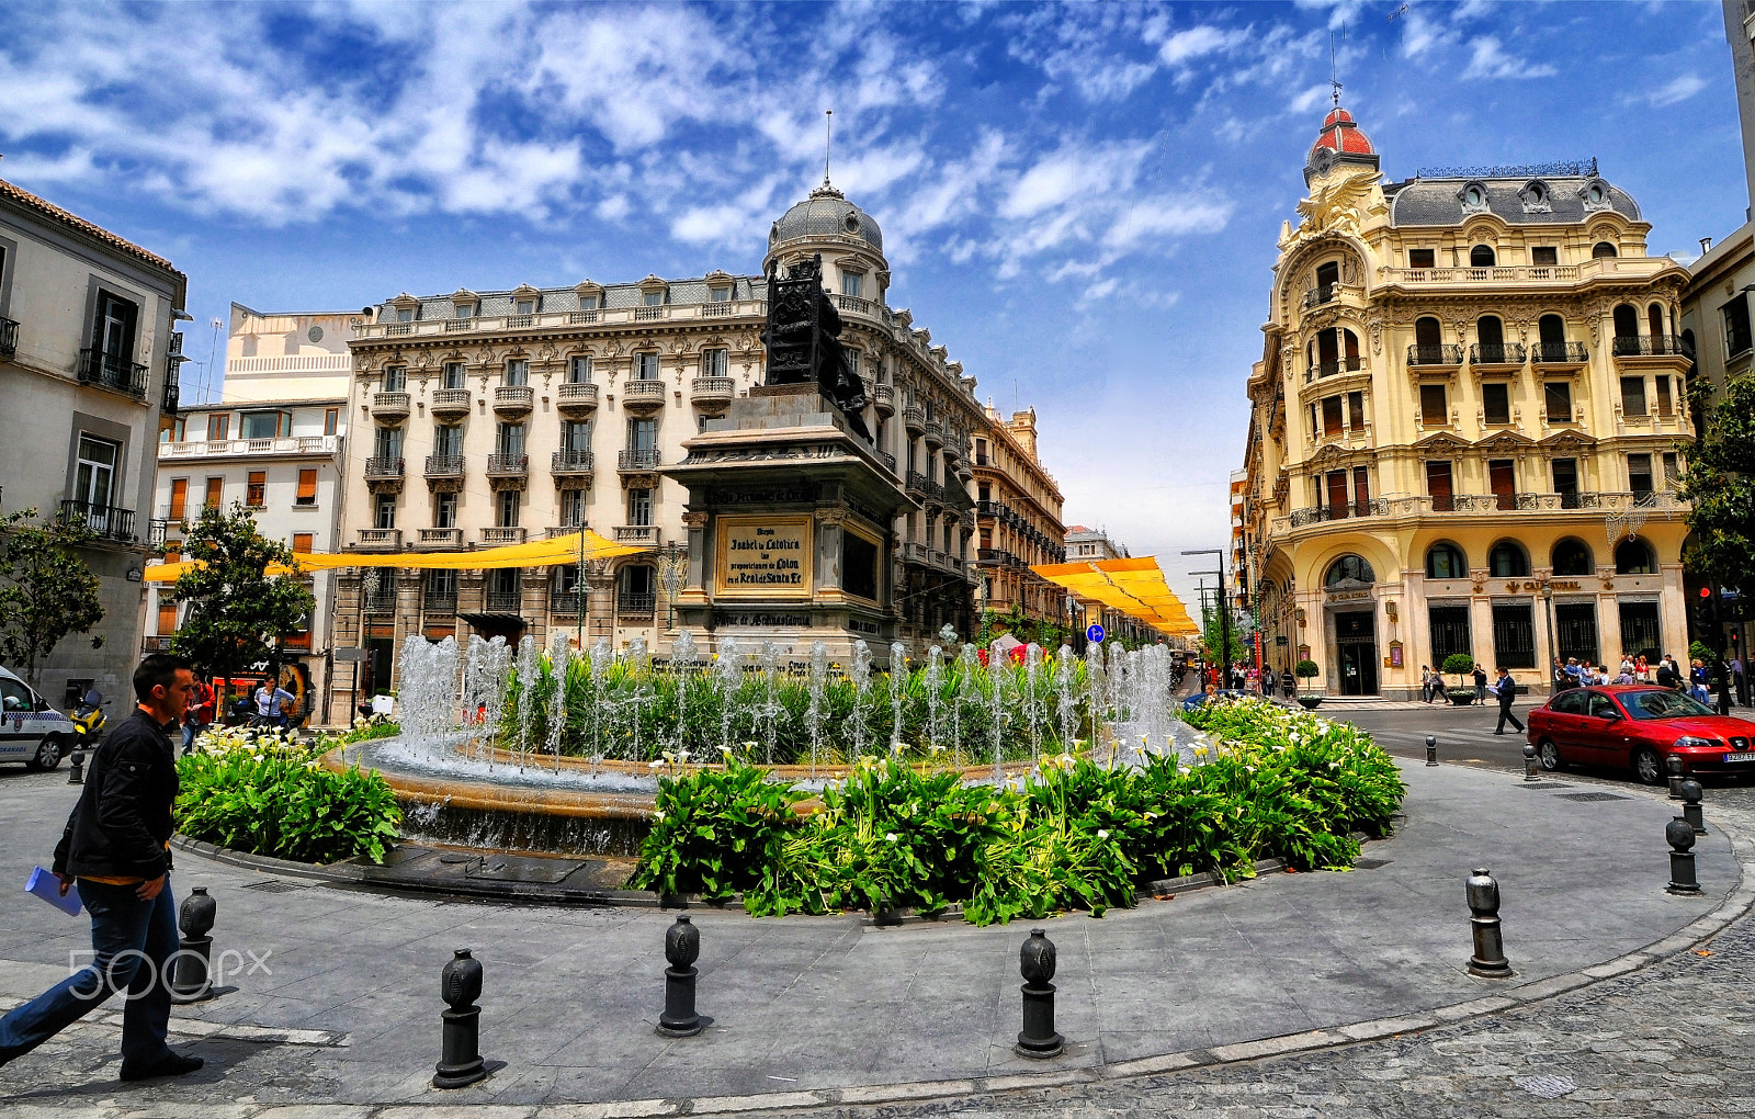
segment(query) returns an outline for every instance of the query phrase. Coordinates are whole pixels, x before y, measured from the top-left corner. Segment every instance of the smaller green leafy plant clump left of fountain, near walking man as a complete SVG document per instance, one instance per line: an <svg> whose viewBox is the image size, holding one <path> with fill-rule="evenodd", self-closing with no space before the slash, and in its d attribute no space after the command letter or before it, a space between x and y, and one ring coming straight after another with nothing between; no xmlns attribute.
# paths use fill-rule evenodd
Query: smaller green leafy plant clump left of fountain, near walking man
<svg viewBox="0 0 1755 1119"><path fill-rule="evenodd" d="M402 809L377 770L323 768L318 758L339 744L251 738L242 728L202 735L197 752L177 758L177 831L300 863L362 854L383 863L384 845L400 835Z"/></svg>

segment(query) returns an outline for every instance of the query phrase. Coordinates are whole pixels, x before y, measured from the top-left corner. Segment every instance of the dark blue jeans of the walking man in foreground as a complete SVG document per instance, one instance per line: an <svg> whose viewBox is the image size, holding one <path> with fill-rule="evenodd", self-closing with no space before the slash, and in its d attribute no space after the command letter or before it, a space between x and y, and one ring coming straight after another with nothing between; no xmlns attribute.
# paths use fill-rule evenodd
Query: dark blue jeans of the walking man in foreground
<svg viewBox="0 0 1755 1119"><path fill-rule="evenodd" d="M165 1059L170 1024L170 963L177 954L177 907L170 880L151 902L135 886L79 882L79 898L91 912L90 966L68 975L18 1010L0 1017L0 1065L12 1061L97 1010L111 994L126 991L121 1014L123 1066L151 1066Z"/></svg>

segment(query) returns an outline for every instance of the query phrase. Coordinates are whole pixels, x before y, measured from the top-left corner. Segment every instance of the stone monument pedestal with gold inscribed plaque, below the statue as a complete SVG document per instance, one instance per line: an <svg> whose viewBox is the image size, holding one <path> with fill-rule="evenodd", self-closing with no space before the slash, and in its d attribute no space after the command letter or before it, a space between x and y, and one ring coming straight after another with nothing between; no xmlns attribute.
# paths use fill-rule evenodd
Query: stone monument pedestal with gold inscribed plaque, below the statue
<svg viewBox="0 0 1755 1119"><path fill-rule="evenodd" d="M886 661L900 623L892 526L920 505L816 384L751 388L683 449L662 468L688 488L677 628L707 651L772 640L793 661L818 640L846 659L863 638Z"/></svg>

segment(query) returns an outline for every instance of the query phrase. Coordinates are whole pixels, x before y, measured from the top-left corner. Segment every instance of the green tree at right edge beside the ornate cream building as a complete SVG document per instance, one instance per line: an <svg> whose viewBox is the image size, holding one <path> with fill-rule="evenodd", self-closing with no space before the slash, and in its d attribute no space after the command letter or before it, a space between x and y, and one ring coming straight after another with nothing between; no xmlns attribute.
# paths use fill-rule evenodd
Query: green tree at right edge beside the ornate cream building
<svg viewBox="0 0 1755 1119"><path fill-rule="evenodd" d="M1690 386L1708 393L1701 379ZM1688 568L1723 588L1739 602L1755 595L1755 379L1736 377L1720 389L1706 414L1706 431L1688 453L1681 493L1690 502L1694 547Z"/></svg>

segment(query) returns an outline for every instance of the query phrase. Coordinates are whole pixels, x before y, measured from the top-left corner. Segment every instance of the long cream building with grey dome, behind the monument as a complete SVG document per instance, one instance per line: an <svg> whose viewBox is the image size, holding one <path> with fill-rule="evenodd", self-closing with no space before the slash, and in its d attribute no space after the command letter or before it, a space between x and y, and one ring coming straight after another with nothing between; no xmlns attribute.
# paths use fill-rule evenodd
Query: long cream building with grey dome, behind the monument
<svg viewBox="0 0 1755 1119"><path fill-rule="evenodd" d="M828 184L774 223L756 275L460 288L372 309L353 340L344 547L472 549L588 526L649 551L588 568L586 642L644 638L665 652L688 495L660 470L762 384L762 275L806 256L821 256L839 300L878 449L923 505L895 524L902 638L923 651L946 623L971 633L976 382L911 312L890 307L883 232ZM333 644L363 640L388 666L409 633L544 640L549 626L577 624L577 593L574 567L404 572L362 603L358 579L344 575Z"/></svg>

